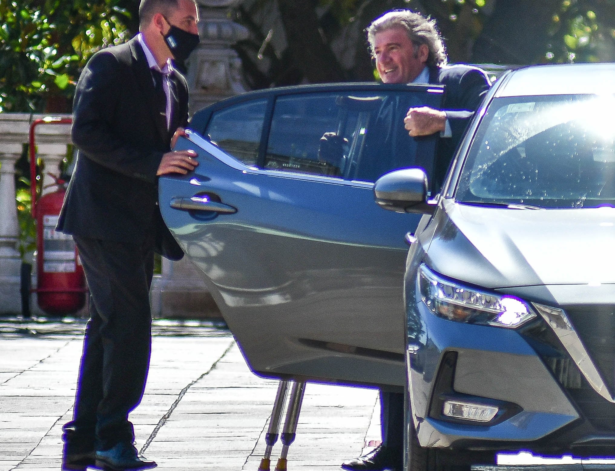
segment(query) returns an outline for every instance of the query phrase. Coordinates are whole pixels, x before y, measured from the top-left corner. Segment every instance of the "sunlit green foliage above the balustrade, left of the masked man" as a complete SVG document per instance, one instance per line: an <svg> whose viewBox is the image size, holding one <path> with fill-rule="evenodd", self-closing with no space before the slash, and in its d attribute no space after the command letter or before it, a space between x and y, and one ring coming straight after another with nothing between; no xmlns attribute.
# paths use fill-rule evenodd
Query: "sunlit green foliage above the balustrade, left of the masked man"
<svg viewBox="0 0 615 471"><path fill-rule="evenodd" d="M136 5L137 0L0 0L0 112L69 112L87 59L137 29Z"/></svg>

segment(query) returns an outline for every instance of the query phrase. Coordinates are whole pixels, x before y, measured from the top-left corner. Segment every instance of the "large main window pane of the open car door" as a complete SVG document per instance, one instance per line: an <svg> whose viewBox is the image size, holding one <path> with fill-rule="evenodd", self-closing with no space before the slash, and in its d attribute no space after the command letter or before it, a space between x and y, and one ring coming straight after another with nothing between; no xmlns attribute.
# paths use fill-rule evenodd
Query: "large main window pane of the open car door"
<svg viewBox="0 0 615 471"><path fill-rule="evenodd" d="M375 181L415 163L416 141L403 127L418 92L300 93L277 98L264 167Z"/></svg>

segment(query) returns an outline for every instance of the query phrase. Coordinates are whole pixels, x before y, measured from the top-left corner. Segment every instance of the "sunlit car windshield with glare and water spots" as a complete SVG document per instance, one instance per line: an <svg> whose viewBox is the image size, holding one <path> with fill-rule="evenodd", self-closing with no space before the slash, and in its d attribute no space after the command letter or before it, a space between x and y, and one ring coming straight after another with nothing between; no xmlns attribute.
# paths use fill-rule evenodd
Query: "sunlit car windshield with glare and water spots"
<svg viewBox="0 0 615 471"><path fill-rule="evenodd" d="M614 95L493 100L455 193L458 202L615 206Z"/></svg>

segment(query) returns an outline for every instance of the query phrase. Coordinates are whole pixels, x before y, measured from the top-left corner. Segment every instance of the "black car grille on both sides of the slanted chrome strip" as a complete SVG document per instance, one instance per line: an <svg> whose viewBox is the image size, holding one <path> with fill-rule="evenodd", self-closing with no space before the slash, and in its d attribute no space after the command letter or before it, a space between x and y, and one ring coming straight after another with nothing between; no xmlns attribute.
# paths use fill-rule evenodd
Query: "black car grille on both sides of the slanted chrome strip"
<svg viewBox="0 0 615 471"><path fill-rule="evenodd" d="M610 391L615 392L615 306L561 306ZM546 323L522 331L582 416L601 432L615 432L615 404L593 390Z"/></svg>

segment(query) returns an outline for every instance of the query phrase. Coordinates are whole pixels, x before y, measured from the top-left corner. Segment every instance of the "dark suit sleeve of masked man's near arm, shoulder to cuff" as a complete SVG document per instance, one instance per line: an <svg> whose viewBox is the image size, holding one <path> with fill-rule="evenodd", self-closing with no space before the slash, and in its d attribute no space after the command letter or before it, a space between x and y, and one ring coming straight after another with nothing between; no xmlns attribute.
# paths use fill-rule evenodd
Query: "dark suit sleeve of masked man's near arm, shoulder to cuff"
<svg viewBox="0 0 615 471"><path fill-rule="evenodd" d="M112 53L99 52L90 59L77 83L71 137L97 164L155 183L163 152L133 144L115 122L126 72Z"/></svg>

